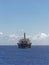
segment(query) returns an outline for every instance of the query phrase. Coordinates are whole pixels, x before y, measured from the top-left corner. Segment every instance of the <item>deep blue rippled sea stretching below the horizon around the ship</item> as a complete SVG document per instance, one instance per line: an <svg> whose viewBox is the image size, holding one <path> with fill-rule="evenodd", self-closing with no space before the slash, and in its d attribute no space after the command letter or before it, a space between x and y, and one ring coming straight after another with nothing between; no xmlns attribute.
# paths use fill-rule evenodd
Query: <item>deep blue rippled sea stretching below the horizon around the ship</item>
<svg viewBox="0 0 49 65"><path fill-rule="evenodd" d="M0 46L0 65L49 65L49 46Z"/></svg>

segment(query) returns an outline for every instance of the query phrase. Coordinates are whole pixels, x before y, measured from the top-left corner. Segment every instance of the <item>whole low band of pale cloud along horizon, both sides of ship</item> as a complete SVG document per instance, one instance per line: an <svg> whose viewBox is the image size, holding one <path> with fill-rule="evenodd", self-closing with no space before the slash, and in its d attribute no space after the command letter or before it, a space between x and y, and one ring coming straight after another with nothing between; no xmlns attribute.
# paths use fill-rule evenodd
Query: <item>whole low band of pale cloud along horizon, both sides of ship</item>
<svg viewBox="0 0 49 65"><path fill-rule="evenodd" d="M33 45L49 45L49 34L46 33L38 33L27 35ZM0 32L0 45L3 44L16 44L17 41L21 38L18 34L6 34L4 35L3 32Z"/></svg>

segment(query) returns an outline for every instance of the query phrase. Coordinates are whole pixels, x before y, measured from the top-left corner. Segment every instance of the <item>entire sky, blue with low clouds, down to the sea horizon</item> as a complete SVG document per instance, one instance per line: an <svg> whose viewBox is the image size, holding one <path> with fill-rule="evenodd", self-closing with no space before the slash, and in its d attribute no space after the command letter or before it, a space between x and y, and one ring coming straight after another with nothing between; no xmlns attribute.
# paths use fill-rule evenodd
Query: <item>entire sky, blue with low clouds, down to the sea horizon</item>
<svg viewBox="0 0 49 65"><path fill-rule="evenodd" d="M0 45L16 45L24 32L49 45L49 0L0 0Z"/></svg>

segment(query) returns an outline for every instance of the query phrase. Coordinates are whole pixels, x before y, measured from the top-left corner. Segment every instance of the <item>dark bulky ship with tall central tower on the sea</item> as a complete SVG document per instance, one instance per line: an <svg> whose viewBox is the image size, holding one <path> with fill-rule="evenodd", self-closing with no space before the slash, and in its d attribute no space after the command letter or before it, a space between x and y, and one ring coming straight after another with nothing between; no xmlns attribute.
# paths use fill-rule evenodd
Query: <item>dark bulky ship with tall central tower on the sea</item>
<svg viewBox="0 0 49 65"><path fill-rule="evenodd" d="M19 40L17 43L18 48L31 48L31 41L29 38L26 38L26 34L24 33L24 37Z"/></svg>

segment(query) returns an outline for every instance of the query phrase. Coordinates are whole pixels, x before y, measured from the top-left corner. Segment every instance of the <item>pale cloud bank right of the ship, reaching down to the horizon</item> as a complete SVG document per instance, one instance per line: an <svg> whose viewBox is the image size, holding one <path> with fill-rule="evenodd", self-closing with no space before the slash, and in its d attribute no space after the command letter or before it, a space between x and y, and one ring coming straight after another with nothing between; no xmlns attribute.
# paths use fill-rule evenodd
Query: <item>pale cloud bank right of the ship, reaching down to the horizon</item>
<svg viewBox="0 0 49 65"><path fill-rule="evenodd" d="M31 36L33 45L49 45L49 34L38 33Z"/></svg>

